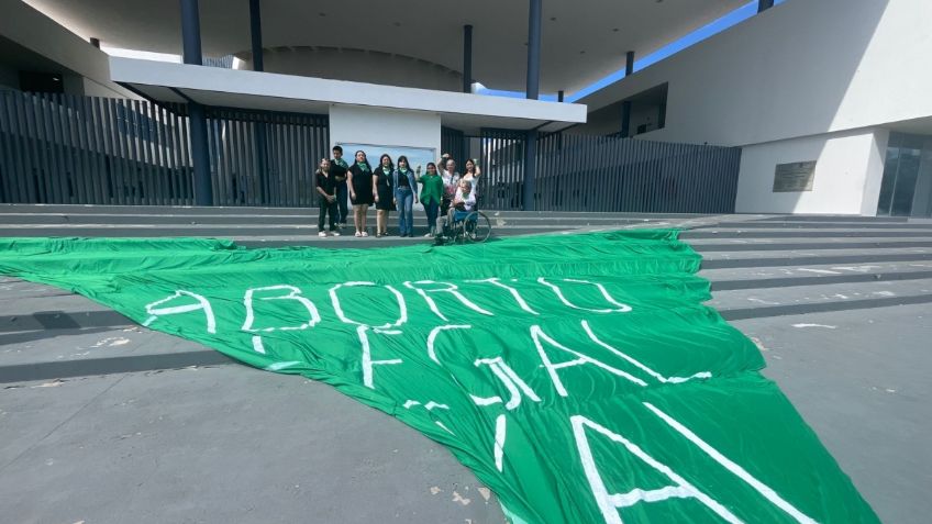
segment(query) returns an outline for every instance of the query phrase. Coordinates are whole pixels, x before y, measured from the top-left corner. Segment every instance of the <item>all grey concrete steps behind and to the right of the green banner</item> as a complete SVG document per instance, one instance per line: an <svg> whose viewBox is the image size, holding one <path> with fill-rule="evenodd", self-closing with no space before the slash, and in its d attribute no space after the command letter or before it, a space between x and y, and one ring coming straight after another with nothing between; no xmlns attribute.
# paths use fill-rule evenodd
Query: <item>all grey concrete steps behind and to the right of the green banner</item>
<svg viewBox="0 0 932 524"><path fill-rule="evenodd" d="M828 286L825 303L837 308L889 305L890 299L922 302L927 293L907 293L932 276L932 220L862 216L701 215L644 213L580 213L485 211L495 236L565 231L677 227L681 238L703 257L700 275L712 281L712 302L722 311L747 315L791 314L811 309L805 299L811 288ZM414 238L397 236L393 213L390 236L375 238L370 213L367 238L354 228L340 237L318 236L317 209L185 208L119 205L0 205L0 236L197 236L232 238L246 247L318 246L378 248L432 242L423 235L426 222L415 210ZM894 297L866 290L887 286ZM896 289L895 289L896 288ZM750 300L775 292L781 299ZM829 293L828 291L834 291ZM744 293L744 294L742 294ZM859 294L858 294L859 293ZM840 297L862 297L858 301ZM769 297L769 294L768 294ZM834 297L834 299L833 299ZM744 303L746 301L746 303ZM855 303L856 302L856 303ZM892 301L896 302L896 301ZM741 305L741 308L739 308ZM744 311L747 310L747 311ZM756 311L756 313L755 313ZM787 313L789 312L789 313Z"/></svg>

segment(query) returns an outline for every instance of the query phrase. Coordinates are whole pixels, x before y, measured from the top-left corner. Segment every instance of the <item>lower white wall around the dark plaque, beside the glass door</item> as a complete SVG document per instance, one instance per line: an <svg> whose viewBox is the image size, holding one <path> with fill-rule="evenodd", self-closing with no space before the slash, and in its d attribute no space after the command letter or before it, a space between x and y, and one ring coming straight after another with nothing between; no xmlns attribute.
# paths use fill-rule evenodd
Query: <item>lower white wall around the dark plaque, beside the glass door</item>
<svg viewBox="0 0 932 524"><path fill-rule="evenodd" d="M889 132L845 131L745 146L735 211L874 215ZM811 191L773 192L777 164L816 160Z"/></svg>

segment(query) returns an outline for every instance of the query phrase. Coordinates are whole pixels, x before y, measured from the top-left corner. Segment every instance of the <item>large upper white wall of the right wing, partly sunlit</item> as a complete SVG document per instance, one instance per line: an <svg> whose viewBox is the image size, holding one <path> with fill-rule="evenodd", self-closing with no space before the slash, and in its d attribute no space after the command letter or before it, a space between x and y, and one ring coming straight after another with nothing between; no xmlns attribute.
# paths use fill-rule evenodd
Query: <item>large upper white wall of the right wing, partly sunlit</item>
<svg viewBox="0 0 932 524"><path fill-rule="evenodd" d="M669 82L648 140L745 145L932 115L932 1L787 0L580 100Z"/></svg>

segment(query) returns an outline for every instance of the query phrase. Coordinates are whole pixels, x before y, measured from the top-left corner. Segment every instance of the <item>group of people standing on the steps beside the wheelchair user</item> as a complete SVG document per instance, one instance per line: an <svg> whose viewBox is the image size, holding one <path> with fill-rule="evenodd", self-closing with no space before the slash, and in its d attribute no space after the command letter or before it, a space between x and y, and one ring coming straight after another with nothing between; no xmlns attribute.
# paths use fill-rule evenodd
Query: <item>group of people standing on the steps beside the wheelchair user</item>
<svg viewBox="0 0 932 524"><path fill-rule="evenodd" d="M428 219L429 231L424 236L434 236L447 214L476 209L480 176L481 170L473 159L466 160L466 170L461 175L448 154L436 164L428 163L422 175L421 166L412 169L403 155L398 157L396 165L391 156L382 154L373 168L365 152L357 150L350 164L343 159L343 148L335 146L333 159L321 159L315 172L320 207L318 235L328 236L324 222L329 216L330 235L340 236L340 228L346 225L348 216L348 200L353 205L357 237L369 236L366 222L371 205L376 208L377 237L388 235L389 212L395 210L398 210L399 235L413 237L414 204L419 202L423 203Z"/></svg>

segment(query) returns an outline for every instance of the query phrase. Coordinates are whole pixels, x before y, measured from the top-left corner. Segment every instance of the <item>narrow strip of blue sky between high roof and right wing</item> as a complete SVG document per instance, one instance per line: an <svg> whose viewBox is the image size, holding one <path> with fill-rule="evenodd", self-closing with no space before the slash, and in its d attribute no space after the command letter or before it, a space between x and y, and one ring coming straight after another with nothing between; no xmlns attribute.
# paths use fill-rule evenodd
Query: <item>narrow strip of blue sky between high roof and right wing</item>
<svg viewBox="0 0 932 524"><path fill-rule="evenodd" d="M780 4L784 1L786 0L775 0L774 5ZM722 31L731 27L732 25L744 22L745 20L750 19L751 16L754 16L755 14L757 14L757 0L752 0L745 3L744 5L735 9L734 11L730 12L729 14L725 14L724 16L709 23L708 25L699 27L696 31L685 35L684 37L661 47L654 53L651 53L650 55L644 56L640 59L635 58L634 70L637 71L652 64L656 64L657 62L661 62L673 54L679 53L680 51L691 45L695 45L710 36L721 33ZM591 94L606 86L621 80L622 78L624 78L623 60L621 62L621 64L619 64L619 67L620 69L612 73L611 75L603 77L574 93L567 93L564 97L564 101L575 102L581 99L582 97L586 97L587 94ZM501 91L497 89L480 88L476 92L478 94L487 94L492 97L524 98L523 91ZM542 93L541 100L556 101L556 93Z"/></svg>

